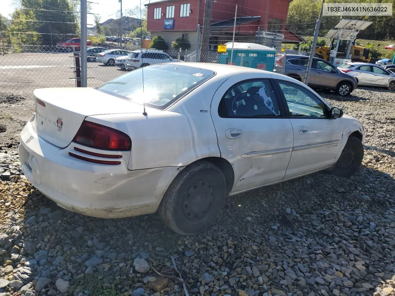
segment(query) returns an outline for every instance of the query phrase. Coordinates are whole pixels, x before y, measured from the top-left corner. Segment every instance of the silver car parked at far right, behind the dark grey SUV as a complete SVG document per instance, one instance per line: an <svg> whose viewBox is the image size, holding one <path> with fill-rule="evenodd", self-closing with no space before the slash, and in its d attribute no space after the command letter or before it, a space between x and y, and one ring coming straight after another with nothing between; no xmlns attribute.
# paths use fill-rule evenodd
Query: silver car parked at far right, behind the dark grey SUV
<svg viewBox="0 0 395 296"><path fill-rule="evenodd" d="M357 79L358 85L386 87L395 90L395 75L382 67L369 63L350 62L337 67Z"/></svg>

